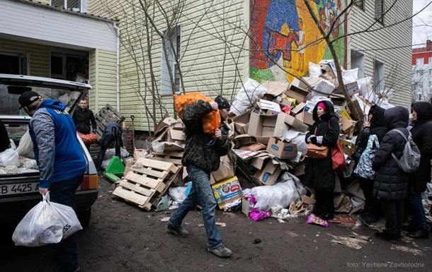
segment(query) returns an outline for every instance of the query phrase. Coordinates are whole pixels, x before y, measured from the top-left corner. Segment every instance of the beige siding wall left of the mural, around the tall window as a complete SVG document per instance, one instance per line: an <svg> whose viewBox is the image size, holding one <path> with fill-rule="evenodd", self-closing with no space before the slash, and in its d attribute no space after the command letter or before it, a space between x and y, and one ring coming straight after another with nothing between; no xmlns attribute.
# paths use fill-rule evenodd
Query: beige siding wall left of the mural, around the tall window
<svg viewBox="0 0 432 272"><path fill-rule="evenodd" d="M120 113L127 122L130 122L131 114L135 115L137 129L152 131L153 120L159 122L166 112L174 115L174 102L171 95L159 96L161 39L146 22L140 6L134 8L127 2L118 7L108 5L109 10L106 4L103 10L101 2L95 3L91 5L90 13L111 14L110 18L120 20ZM172 18L171 6L177 2L160 2L169 11L166 13L168 18ZM249 66L244 45L247 41L244 6L248 5L243 1L198 0L186 1L186 6L174 8L181 11L177 25L181 25L182 91L200 91L211 97L223 94L229 100L233 99L239 82L246 79ZM158 30L166 30L164 16L157 8L152 8L155 26ZM115 14L111 13L113 10ZM150 35L147 35L145 25L149 25Z"/></svg>

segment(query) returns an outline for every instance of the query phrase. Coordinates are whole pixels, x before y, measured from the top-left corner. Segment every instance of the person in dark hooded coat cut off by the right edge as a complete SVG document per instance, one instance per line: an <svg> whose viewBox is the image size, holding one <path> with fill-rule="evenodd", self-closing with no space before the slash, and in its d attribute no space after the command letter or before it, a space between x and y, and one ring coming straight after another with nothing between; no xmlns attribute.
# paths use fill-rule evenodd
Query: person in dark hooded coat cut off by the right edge
<svg viewBox="0 0 432 272"><path fill-rule="evenodd" d="M411 174L408 201L413 220L404 228L413 238L428 238L428 223L424 213L421 193L426 191L426 184L431 182L432 154L432 107L428 102L415 102L411 106L413 128L412 139L420 150L421 158L417 172Z"/></svg>

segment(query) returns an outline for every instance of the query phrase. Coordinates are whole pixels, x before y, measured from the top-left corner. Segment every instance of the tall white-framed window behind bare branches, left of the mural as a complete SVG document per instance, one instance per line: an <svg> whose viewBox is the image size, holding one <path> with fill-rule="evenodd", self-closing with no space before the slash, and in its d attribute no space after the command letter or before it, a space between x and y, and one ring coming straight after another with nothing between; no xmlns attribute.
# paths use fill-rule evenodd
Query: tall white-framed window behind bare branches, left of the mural
<svg viewBox="0 0 432 272"><path fill-rule="evenodd" d="M180 69L178 67L181 59L181 25L165 30L163 33L166 38L161 53L161 95L179 94L181 93ZM174 90L171 80L174 81Z"/></svg>

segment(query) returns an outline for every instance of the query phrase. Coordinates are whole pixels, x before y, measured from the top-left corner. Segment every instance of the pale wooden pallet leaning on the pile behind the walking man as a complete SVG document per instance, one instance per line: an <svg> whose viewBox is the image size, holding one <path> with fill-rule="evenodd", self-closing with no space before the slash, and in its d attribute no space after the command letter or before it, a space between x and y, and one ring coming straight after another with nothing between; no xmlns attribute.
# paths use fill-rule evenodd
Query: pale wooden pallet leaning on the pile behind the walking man
<svg viewBox="0 0 432 272"><path fill-rule="evenodd" d="M171 162L147 158L138 159L134 166L113 194L149 211L165 194L179 168Z"/></svg>

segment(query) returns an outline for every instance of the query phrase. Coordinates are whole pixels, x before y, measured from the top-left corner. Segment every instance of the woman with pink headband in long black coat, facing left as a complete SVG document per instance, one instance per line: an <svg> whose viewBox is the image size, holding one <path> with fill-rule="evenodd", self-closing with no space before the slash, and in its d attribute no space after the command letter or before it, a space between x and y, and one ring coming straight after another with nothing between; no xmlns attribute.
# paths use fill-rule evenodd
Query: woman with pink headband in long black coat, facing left
<svg viewBox="0 0 432 272"><path fill-rule="evenodd" d="M328 146L329 153L322 160L307 158L305 169L305 185L315 190L317 202L312 213L324 220L334 218L333 194L335 175L331 161L331 148L336 146L339 138L339 121L334 114L334 106L330 101L317 103L312 112L314 124L305 136L306 143Z"/></svg>

